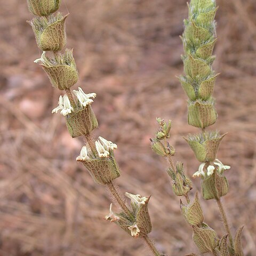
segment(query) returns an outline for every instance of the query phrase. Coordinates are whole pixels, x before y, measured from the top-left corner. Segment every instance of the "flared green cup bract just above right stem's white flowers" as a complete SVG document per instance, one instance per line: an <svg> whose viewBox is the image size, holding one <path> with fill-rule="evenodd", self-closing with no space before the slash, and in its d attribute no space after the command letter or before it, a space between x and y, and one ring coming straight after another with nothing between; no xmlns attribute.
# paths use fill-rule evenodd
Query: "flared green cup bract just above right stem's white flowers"
<svg viewBox="0 0 256 256"><path fill-rule="evenodd" d="M195 135L189 135L184 138L190 148L194 151L195 156L199 162L212 162L216 158L220 142L226 135L215 132L204 132Z"/></svg>

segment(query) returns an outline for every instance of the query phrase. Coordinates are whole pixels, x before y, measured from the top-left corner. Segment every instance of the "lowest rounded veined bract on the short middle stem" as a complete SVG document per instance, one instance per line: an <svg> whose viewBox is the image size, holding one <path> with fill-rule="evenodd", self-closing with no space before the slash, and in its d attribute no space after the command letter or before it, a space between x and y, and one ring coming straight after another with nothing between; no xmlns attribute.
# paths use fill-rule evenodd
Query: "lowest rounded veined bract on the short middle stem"
<svg viewBox="0 0 256 256"><path fill-rule="evenodd" d="M201 253L213 252L219 243L215 230L205 223L193 226L193 240Z"/></svg>

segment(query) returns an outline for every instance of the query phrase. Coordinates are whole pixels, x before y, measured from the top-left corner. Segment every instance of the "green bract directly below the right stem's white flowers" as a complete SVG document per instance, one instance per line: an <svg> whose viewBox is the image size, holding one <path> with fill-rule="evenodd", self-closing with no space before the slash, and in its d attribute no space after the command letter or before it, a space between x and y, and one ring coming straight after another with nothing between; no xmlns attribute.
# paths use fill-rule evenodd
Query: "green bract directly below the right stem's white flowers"
<svg viewBox="0 0 256 256"><path fill-rule="evenodd" d="M228 193L228 180L222 174L214 171L214 173L202 179L203 197L205 200L219 199Z"/></svg>

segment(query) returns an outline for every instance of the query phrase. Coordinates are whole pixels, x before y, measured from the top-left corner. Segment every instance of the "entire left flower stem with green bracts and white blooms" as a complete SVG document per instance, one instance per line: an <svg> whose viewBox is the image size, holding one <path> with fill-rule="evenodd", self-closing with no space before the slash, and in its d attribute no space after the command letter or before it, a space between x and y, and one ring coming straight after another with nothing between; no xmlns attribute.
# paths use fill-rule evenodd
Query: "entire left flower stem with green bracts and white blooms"
<svg viewBox="0 0 256 256"><path fill-rule="evenodd" d="M95 93L85 93L81 87L71 91L70 88L78 81L78 71L73 57L73 50L65 49L66 18L58 11L60 0L27 0L28 8L36 17L28 23L33 28L38 48L43 51L39 63L50 79L55 89L65 91L59 97L58 106L52 110L53 114L60 113L66 120L67 129L72 138L84 137L85 145L76 158L87 169L95 183L106 186L115 204L121 212L114 212L113 203L110 204L106 220L114 222L133 238L142 238L151 252L156 256L161 254L153 241L148 237L152 230L148 203L150 197L139 194L125 193L129 199L127 204L124 196L119 192L114 180L121 175L121 170L115 160L114 150L117 145L109 140L93 137L93 130L98 127L92 103Z"/></svg>

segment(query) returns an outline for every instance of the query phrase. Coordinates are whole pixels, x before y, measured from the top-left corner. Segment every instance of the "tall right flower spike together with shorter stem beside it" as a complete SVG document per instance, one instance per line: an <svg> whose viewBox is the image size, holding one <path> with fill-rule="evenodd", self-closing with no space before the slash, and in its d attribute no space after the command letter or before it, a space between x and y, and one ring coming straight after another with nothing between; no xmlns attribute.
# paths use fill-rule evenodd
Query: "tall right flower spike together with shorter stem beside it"
<svg viewBox="0 0 256 256"><path fill-rule="evenodd" d="M243 227L236 232L235 239L231 234L229 222L221 197L229 191L225 170L230 166L217 159L220 143L226 134L219 131L206 131L206 127L217 121L217 111L213 90L219 74L212 68L215 56L214 45L217 42L215 14L218 6L215 0L191 0L188 4L188 19L184 21L185 29L181 36L184 54L182 55L184 75L179 77L183 90L188 97L188 124L198 127L201 132L189 134L184 138L194 151L199 164L193 177L201 178L202 195L205 200L215 199L218 204L225 234L219 237L217 232L204 222L203 211L198 193L190 201L189 193L192 182L183 170L183 164L174 163L175 149L167 139L170 137L171 121L165 123L157 118L159 130L151 139L153 151L167 158L167 173L172 180L175 195L185 197L181 200L181 212L186 222L192 227L193 240L200 253L211 253L220 256L243 256L241 235ZM187 255L198 255L190 253Z"/></svg>

